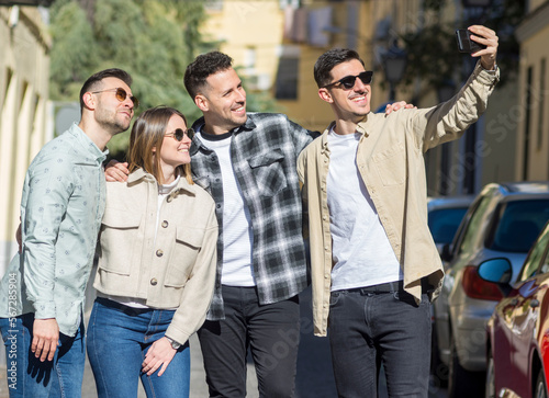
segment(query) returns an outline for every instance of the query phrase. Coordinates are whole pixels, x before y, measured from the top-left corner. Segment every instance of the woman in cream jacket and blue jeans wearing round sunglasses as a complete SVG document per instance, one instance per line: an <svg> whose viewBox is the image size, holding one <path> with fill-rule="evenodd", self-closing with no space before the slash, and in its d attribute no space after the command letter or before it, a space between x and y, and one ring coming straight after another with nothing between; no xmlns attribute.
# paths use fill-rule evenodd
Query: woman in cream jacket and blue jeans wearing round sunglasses
<svg viewBox="0 0 549 398"><path fill-rule="evenodd" d="M192 129L171 107L145 111L130 177L107 183L87 345L99 397L188 397L189 337L210 305L217 221L191 180Z"/></svg>

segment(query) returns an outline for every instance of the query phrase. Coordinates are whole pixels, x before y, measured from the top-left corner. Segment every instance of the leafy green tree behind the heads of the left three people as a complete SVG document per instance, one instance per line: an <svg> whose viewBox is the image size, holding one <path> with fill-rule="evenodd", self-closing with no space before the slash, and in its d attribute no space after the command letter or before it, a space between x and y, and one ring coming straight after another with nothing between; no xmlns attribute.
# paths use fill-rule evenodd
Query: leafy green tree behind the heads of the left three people
<svg viewBox="0 0 549 398"><path fill-rule="evenodd" d="M201 115L183 75L195 55L215 47L199 32L206 18L202 1L57 0L51 15L53 100L74 101L89 76L116 67L134 79L132 91L141 101L136 115L160 104L180 110L189 122ZM256 111L272 105L256 96L249 95ZM128 138L126 132L111 140L114 157L122 158Z"/></svg>

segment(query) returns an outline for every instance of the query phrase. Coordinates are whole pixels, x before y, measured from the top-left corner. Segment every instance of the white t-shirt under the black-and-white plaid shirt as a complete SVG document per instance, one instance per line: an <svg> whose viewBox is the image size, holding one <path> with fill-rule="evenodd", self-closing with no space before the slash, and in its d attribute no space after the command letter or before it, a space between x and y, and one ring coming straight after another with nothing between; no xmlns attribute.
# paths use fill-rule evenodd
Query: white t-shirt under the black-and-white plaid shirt
<svg viewBox="0 0 549 398"><path fill-rule="evenodd" d="M231 161L231 137L197 133L198 138L215 152L223 178L223 269L221 283L229 286L255 286L251 249L251 217L244 202ZM220 139L221 138L221 139Z"/></svg>

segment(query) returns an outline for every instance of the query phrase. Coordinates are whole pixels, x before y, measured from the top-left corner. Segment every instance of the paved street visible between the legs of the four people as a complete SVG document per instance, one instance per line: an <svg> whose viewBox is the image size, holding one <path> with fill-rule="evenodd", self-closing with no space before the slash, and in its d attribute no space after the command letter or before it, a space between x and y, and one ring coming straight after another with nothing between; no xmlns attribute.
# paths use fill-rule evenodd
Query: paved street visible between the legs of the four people
<svg viewBox="0 0 549 398"><path fill-rule="evenodd" d="M336 389L332 374L329 357L329 344L327 338L313 336L313 322L311 318L311 289L301 295L301 343L298 355L296 398L334 398ZM208 397L204 369L200 344L195 336L191 338L191 398ZM380 398L386 397L383 389L384 380L381 380ZM248 398L257 398L257 379L254 365L248 363ZM8 397L5 383L5 368L0 368L0 398ZM87 363L85 382L82 386L82 398L97 397L96 384L91 368ZM446 398L446 390L432 387L429 398ZM145 398L145 393L139 387L138 398ZM365 397L369 398L369 397Z"/></svg>

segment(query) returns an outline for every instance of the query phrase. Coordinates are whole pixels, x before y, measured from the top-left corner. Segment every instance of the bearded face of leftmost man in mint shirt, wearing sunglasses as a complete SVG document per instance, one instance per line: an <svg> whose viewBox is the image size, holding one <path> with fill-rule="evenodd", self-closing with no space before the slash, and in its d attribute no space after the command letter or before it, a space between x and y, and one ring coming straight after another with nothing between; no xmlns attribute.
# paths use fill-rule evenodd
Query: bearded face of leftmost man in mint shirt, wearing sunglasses
<svg viewBox="0 0 549 398"><path fill-rule="evenodd" d="M132 89L117 78L105 78L101 83L101 88L97 91L101 90L102 92L93 94L97 96L96 122L113 135L125 132L134 116L134 103L131 100ZM115 91L111 90L115 88L125 90L127 95L124 101L121 102L116 99Z"/></svg>

